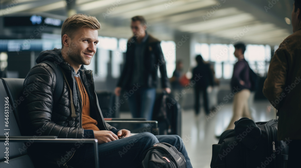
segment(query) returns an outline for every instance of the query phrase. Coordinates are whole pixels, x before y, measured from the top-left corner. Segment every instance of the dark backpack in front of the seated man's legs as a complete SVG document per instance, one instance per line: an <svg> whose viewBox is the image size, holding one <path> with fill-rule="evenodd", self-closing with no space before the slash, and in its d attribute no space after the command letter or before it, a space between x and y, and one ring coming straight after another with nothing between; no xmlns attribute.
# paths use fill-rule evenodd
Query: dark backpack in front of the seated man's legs
<svg viewBox="0 0 301 168"><path fill-rule="evenodd" d="M143 168L186 168L181 152L168 143L156 143L144 152Z"/></svg>

